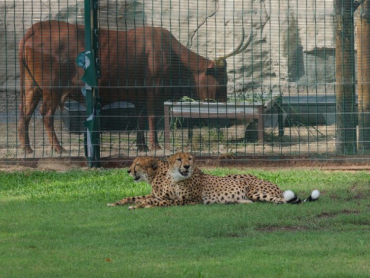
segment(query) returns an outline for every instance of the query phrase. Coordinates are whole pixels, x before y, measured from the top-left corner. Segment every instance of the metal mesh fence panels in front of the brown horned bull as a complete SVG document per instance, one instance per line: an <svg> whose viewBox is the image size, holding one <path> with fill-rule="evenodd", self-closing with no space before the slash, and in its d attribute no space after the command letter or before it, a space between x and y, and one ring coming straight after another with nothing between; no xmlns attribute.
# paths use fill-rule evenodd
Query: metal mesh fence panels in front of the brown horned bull
<svg viewBox="0 0 370 278"><path fill-rule="evenodd" d="M370 153L367 0L97 8L102 157ZM2 0L0 18L0 157L84 156L84 1Z"/></svg>

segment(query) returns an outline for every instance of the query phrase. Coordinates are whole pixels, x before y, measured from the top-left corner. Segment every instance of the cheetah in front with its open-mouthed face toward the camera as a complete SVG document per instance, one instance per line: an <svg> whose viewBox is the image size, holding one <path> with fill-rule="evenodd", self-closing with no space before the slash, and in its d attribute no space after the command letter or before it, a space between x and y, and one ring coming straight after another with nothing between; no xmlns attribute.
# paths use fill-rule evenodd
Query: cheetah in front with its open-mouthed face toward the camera
<svg viewBox="0 0 370 278"><path fill-rule="evenodd" d="M163 192L159 198L148 198L139 207L185 205L198 203L249 203L267 201L274 203L299 203L292 191L280 190L275 184L253 175L213 176L194 166L194 157L189 153L177 153L168 158L169 169L163 179ZM303 201L314 201L320 193L315 190Z"/></svg>

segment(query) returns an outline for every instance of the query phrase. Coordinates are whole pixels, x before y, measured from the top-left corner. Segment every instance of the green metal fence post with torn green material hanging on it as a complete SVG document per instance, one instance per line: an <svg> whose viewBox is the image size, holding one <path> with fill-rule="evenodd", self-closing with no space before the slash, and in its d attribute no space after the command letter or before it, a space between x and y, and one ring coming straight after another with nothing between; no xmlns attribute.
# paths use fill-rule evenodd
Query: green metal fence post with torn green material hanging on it
<svg viewBox="0 0 370 278"><path fill-rule="evenodd" d="M99 88L97 80L98 24L97 0L85 0L85 82L86 100L86 144L85 154L89 167L100 166L100 142L98 119L100 115ZM93 45L94 42L94 45Z"/></svg>

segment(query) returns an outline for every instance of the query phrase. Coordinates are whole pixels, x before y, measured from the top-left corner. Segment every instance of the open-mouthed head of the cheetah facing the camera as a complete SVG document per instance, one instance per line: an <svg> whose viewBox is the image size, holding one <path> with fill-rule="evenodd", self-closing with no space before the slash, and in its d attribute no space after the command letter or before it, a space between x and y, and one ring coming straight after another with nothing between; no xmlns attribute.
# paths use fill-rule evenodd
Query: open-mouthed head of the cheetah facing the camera
<svg viewBox="0 0 370 278"><path fill-rule="evenodd" d="M174 182L186 180L194 171L194 157L189 153L176 153L167 158L169 173Z"/></svg>

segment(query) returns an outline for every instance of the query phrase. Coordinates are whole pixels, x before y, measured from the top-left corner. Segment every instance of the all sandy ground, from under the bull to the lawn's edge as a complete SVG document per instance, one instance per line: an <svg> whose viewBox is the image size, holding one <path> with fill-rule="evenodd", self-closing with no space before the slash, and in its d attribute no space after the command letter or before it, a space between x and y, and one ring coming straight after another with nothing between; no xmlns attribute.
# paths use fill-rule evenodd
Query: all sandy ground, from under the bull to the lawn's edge
<svg viewBox="0 0 370 278"><path fill-rule="evenodd" d="M0 122L0 171L88 169L84 158L83 135L70 133L61 119L54 121L56 133L66 152L51 151L42 119L32 119L30 140L34 154L25 155L17 141L15 123ZM174 152L191 152L202 167L230 166L277 170L288 168L323 169L328 171L370 170L370 156L336 157L335 125L317 127L292 126L285 128L284 136L277 129L266 128L264 141L245 142L245 126L222 128L194 128L191 141L187 129L176 129L171 144L164 145L163 132L159 132L162 150L139 152L136 132L103 133L101 165L104 168L127 167L137 156L165 157Z"/></svg>

